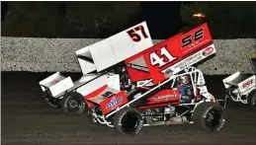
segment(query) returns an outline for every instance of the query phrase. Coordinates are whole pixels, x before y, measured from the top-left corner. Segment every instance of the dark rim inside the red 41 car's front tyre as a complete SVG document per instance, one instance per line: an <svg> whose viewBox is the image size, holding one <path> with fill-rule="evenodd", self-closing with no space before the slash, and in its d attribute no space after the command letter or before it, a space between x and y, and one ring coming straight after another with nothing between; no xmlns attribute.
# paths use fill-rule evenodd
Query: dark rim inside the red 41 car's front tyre
<svg viewBox="0 0 256 145"><path fill-rule="evenodd" d="M122 118L122 127L126 132L134 131L138 126L138 117L136 114L127 113Z"/></svg>

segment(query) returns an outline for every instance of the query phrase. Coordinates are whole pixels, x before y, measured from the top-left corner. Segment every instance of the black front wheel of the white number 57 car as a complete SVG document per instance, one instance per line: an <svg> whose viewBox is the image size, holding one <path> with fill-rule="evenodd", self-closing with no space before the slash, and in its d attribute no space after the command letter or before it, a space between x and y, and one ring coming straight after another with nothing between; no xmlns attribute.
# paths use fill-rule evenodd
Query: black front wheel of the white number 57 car
<svg viewBox="0 0 256 145"><path fill-rule="evenodd" d="M61 100L61 109L67 115L81 114L86 109L84 97L79 93L68 93Z"/></svg>

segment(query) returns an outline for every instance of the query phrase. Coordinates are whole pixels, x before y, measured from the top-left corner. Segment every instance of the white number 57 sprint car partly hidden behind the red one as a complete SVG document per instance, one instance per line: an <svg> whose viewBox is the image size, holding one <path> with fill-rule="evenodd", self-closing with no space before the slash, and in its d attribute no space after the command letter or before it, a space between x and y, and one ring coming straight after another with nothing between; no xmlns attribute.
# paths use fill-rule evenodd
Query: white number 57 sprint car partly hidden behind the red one
<svg viewBox="0 0 256 145"><path fill-rule="evenodd" d="M139 41L140 36L135 32L146 38ZM86 108L82 97L105 84L118 91L129 91L133 84L128 79L122 61L152 45L147 25L142 22L115 36L77 50L75 53L82 71L81 78L73 82L70 76L56 72L43 79L39 83L43 90L43 102L49 107L62 109L68 115L81 114ZM72 96L76 98L73 99Z"/></svg>

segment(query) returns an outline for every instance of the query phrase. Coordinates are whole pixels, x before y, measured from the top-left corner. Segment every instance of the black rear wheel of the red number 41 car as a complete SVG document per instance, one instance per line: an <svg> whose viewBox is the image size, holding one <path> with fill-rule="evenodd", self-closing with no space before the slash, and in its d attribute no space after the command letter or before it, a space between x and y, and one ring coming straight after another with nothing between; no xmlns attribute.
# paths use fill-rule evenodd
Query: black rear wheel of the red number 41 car
<svg viewBox="0 0 256 145"><path fill-rule="evenodd" d="M202 103L194 111L195 126L204 132L220 130L225 122L224 109L218 104Z"/></svg>

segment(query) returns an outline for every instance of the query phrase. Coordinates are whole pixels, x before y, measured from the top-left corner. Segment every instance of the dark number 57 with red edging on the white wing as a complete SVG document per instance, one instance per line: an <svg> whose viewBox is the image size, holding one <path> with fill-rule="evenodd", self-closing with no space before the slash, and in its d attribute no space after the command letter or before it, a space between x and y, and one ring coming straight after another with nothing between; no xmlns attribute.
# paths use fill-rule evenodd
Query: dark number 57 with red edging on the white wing
<svg viewBox="0 0 256 145"><path fill-rule="evenodd" d="M142 36L144 38L148 37L145 33L145 30L144 30L144 27L142 25L138 26L138 27L135 27L134 29L131 29L129 30L127 33L128 33L128 36L133 40L133 41L140 41L141 40L141 36L139 36L137 34L137 32L140 31Z"/></svg>

